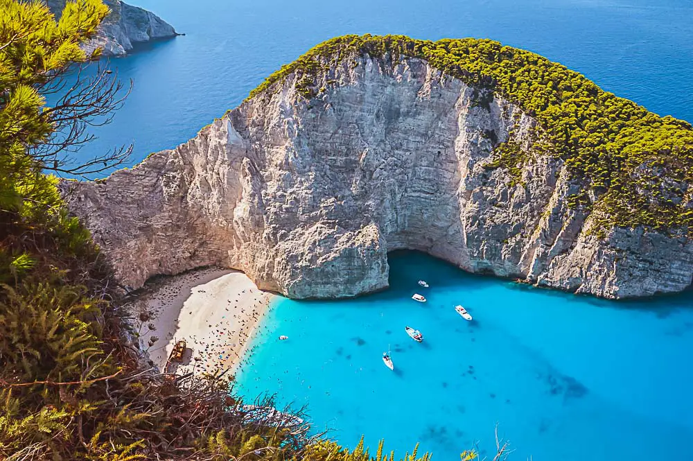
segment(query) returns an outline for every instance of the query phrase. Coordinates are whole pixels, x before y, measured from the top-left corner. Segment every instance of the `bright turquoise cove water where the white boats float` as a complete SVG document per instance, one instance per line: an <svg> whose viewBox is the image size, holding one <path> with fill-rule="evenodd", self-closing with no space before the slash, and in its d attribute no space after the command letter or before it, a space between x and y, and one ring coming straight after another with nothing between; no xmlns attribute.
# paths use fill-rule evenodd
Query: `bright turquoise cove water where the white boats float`
<svg viewBox="0 0 693 461"><path fill-rule="evenodd" d="M236 392L306 405L313 430L345 446L384 437L403 455L421 442L437 460L477 443L492 456L495 424L515 449L511 460L674 460L688 451L691 293L609 302L470 275L416 252L394 252L389 265L381 293L277 298ZM395 372L380 360L388 346Z"/></svg>

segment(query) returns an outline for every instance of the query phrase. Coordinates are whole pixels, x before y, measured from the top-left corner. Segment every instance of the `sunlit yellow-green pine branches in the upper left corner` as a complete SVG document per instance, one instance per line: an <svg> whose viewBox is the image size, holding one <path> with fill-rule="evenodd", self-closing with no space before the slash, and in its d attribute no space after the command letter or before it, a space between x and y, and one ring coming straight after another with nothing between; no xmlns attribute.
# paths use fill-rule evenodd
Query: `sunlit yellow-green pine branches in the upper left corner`
<svg viewBox="0 0 693 461"><path fill-rule="evenodd" d="M38 1L0 0L0 11L0 174L8 179L0 182L0 209L16 210L44 205L54 184L26 152L54 130L40 90L67 64L96 57L79 45L96 33L108 8L100 0L67 3L57 22Z"/></svg>

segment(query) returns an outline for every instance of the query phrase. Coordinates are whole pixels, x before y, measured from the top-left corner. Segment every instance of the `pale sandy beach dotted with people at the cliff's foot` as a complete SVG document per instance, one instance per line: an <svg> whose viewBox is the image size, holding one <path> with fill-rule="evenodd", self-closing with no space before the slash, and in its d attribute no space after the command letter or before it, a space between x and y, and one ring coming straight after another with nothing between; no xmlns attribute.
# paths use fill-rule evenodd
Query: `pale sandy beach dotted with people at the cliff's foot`
<svg viewBox="0 0 693 461"><path fill-rule="evenodd" d="M129 310L142 348L161 371L184 340L182 362L168 372L233 373L273 296L243 272L207 268L153 281Z"/></svg>

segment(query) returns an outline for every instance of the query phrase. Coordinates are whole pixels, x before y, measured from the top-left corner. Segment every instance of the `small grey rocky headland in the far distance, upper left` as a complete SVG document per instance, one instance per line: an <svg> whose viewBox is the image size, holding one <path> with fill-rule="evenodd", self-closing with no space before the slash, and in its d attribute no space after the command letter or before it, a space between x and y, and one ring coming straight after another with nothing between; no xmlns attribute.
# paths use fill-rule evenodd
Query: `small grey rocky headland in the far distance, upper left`
<svg viewBox="0 0 693 461"><path fill-rule="evenodd" d="M67 0L44 0L57 17ZM111 10L99 28L99 32L85 45L89 53L100 47L104 56L124 55L132 50L132 44L175 37L173 26L154 13L128 5L121 0L103 0Z"/></svg>

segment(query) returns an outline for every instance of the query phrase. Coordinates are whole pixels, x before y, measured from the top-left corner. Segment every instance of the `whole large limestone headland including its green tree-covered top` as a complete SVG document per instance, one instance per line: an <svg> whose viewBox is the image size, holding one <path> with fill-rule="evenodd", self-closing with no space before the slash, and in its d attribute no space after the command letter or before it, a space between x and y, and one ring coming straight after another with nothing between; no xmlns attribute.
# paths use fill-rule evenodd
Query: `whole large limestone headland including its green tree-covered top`
<svg viewBox="0 0 693 461"><path fill-rule="evenodd" d="M407 248L622 298L691 284L692 157L689 124L533 53L349 36L66 193L131 286L214 264L289 297L353 296Z"/></svg>

